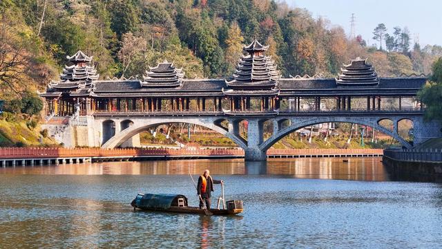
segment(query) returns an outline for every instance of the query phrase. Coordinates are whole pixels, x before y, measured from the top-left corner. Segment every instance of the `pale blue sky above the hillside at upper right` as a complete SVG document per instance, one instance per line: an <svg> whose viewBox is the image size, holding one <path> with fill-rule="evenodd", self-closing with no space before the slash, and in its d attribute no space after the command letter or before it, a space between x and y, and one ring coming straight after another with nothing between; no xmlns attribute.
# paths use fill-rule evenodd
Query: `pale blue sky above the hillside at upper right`
<svg viewBox="0 0 442 249"><path fill-rule="evenodd" d="M350 34L350 18L356 17L355 33L362 35L367 44L377 44L373 30L385 24L387 33L393 27L407 27L414 41L419 44L442 45L442 1L441 0L285 0L289 6L306 8L312 17L329 19L332 25L342 26Z"/></svg>

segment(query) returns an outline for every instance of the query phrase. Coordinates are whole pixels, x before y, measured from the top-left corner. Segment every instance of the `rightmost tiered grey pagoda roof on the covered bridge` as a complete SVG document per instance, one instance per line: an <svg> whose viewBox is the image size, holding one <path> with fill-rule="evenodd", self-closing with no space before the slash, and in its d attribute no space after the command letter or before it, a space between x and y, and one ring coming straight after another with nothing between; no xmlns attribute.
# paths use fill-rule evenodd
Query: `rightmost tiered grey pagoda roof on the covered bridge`
<svg viewBox="0 0 442 249"><path fill-rule="evenodd" d="M379 84L378 74L374 67L367 64L367 59L357 57L348 65L343 65L341 73L336 78L338 85L372 85Z"/></svg>

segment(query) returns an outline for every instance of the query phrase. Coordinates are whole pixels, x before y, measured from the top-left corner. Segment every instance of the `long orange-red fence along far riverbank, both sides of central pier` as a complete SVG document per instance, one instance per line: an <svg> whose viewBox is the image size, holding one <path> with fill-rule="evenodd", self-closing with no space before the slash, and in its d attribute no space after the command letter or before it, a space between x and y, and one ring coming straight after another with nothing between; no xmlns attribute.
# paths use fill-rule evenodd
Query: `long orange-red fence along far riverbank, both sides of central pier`
<svg viewBox="0 0 442 249"><path fill-rule="evenodd" d="M269 149L268 155L383 154L383 149ZM0 148L0 158L72 158L119 156L244 156L242 149Z"/></svg>

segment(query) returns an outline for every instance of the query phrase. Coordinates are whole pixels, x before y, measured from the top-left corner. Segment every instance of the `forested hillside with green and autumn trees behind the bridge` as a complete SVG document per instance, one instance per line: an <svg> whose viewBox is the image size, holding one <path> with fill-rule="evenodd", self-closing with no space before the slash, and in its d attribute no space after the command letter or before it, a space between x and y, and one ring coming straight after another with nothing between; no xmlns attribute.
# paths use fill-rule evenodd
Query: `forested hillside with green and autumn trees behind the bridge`
<svg viewBox="0 0 442 249"><path fill-rule="evenodd" d="M367 57L381 76L430 73L441 46L411 46L406 29L381 32L387 50L349 39L308 10L269 0L3 0L0 2L1 98L57 79L66 55L94 56L102 78L131 77L164 59L186 77L229 77L242 44L257 37L282 75L335 76ZM387 52L388 51L388 52Z"/></svg>

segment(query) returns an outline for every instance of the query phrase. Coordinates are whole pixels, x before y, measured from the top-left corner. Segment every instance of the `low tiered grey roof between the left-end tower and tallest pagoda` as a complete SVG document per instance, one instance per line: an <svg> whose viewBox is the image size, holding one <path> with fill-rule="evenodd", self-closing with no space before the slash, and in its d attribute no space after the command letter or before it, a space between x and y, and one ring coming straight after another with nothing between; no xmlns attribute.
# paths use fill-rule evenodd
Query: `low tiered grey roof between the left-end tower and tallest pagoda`
<svg viewBox="0 0 442 249"><path fill-rule="evenodd" d="M155 67L149 67L147 76L143 76L142 86L148 87L176 87L180 86L184 73L177 69L173 63L164 61Z"/></svg>

